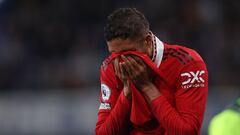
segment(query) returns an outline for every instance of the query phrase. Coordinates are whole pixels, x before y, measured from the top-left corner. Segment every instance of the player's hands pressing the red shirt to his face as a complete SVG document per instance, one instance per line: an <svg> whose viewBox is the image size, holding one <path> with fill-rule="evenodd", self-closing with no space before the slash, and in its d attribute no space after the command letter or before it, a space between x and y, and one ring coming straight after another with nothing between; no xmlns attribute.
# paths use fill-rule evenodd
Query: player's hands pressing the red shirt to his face
<svg viewBox="0 0 240 135"><path fill-rule="evenodd" d="M151 69L137 56L125 56L120 55L122 61L119 61L119 58L114 60L115 74L119 77L124 84L124 95L127 98L131 98L131 87L130 82L132 82L141 92L149 92L151 89L147 89L148 86L154 88L152 84ZM151 95L153 91L149 92L148 95ZM159 96L160 92L155 88L155 94L152 96ZM145 94L146 95L146 94ZM150 102L155 97L147 97Z"/></svg>

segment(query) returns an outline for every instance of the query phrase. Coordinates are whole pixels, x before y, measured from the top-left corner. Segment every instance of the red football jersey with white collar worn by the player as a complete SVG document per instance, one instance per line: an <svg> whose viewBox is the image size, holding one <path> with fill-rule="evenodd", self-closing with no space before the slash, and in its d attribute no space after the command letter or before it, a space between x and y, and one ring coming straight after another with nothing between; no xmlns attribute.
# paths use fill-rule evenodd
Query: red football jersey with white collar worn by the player
<svg viewBox="0 0 240 135"><path fill-rule="evenodd" d="M189 48L168 45L155 37L152 61L163 73L156 78L161 96L149 105L153 118L144 125L130 121L131 101L107 58L100 69L101 93L98 135L200 135L208 92L208 71L200 55Z"/></svg>

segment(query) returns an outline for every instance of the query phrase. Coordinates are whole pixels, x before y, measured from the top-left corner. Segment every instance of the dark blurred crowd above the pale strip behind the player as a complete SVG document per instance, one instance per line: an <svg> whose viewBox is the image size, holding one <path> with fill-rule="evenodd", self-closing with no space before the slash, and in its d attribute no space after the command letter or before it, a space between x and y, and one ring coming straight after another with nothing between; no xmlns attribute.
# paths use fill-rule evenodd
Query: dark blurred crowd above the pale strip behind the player
<svg viewBox="0 0 240 135"><path fill-rule="evenodd" d="M210 86L239 86L239 0L0 0L0 89L99 84L105 19L136 7L162 41L196 49Z"/></svg>

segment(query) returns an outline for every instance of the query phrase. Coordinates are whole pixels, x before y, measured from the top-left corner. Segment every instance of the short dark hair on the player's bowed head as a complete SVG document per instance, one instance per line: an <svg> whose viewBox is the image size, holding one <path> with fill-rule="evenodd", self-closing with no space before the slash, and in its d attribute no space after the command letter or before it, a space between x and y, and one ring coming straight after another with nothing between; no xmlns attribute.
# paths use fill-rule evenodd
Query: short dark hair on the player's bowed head
<svg viewBox="0 0 240 135"><path fill-rule="evenodd" d="M104 37L112 39L137 39L149 31L149 22L136 8L119 8L106 21Z"/></svg>

